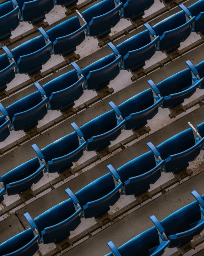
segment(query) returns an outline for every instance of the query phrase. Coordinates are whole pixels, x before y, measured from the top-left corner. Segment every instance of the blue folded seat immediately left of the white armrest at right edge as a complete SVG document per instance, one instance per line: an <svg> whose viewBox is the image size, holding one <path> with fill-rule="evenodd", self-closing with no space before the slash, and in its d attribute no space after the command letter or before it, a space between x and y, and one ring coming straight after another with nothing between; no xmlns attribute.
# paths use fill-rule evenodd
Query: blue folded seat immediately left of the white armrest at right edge
<svg viewBox="0 0 204 256"><path fill-rule="evenodd" d="M168 140L155 147L148 142L148 147L153 151L154 155L161 160L165 160L165 173L180 172L189 166L189 162L193 161L200 154L200 146L204 143L204 137L195 142L192 129L187 129L174 135Z"/></svg>

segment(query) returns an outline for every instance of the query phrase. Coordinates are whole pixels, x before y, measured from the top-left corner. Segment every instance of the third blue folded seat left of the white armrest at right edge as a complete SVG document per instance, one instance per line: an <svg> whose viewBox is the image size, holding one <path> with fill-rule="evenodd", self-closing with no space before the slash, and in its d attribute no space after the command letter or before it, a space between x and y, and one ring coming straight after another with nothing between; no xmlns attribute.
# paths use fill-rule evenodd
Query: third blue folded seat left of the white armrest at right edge
<svg viewBox="0 0 204 256"><path fill-rule="evenodd" d="M73 202L79 203L83 209L84 218L98 218L108 212L110 206L113 206L118 201L122 186L122 182L118 182L117 186L115 186L111 173L108 173L91 182L75 195L69 188L65 191Z"/></svg>

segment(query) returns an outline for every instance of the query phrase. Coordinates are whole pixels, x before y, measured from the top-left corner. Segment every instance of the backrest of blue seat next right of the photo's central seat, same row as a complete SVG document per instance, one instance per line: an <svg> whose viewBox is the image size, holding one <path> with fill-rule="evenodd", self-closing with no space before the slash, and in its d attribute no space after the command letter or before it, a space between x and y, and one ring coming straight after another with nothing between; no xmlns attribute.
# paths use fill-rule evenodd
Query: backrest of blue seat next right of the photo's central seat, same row
<svg viewBox="0 0 204 256"><path fill-rule="evenodd" d="M121 111L122 117L124 119L130 114L145 110L153 104L154 96L151 88L149 88L118 105L118 108Z"/></svg>

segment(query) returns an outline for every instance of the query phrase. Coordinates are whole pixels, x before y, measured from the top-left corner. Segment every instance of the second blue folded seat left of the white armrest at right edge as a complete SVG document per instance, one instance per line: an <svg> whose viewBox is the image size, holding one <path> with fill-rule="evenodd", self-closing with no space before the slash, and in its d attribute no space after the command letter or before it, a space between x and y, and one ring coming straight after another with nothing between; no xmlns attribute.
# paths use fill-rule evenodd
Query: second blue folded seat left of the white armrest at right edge
<svg viewBox="0 0 204 256"><path fill-rule="evenodd" d="M152 151L149 151L117 170L111 164L107 168L116 180L121 180L124 185L125 195L140 195L150 189L150 184L154 184L161 176L165 161L162 160L158 165Z"/></svg>

